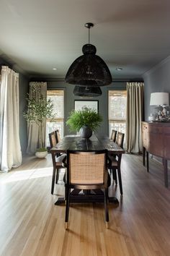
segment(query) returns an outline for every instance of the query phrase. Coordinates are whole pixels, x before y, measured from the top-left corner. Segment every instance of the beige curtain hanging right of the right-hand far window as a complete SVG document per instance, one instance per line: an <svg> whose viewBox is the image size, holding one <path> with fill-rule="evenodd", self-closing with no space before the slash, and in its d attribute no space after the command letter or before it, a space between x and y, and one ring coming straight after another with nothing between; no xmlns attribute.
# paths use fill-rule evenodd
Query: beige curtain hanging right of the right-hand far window
<svg viewBox="0 0 170 256"><path fill-rule="evenodd" d="M143 82L127 83L126 150L128 153L142 151Z"/></svg>

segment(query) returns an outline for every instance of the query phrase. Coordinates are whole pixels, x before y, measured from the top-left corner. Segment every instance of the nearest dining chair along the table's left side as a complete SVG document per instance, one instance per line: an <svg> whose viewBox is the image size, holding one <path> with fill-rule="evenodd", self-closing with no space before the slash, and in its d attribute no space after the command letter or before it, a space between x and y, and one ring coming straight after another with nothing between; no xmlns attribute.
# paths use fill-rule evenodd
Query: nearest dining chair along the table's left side
<svg viewBox="0 0 170 256"><path fill-rule="evenodd" d="M57 136L56 131L49 133L49 140L50 140L50 149L54 148L57 143ZM54 185L55 183L58 183L59 178L59 171L63 167L63 161L66 159L66 153L60 154L60 153L54 153L50 151L53 161L53 176L52 176L52 184L51 184L51 194L53 195L54 192Z"/></svg>

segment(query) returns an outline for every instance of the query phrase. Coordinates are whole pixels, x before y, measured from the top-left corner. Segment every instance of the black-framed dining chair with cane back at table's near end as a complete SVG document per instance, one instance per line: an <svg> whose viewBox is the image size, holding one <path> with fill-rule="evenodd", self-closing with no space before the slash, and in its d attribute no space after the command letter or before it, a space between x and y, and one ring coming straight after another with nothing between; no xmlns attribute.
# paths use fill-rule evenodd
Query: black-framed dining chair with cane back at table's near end
<svg viewBox="0 0 170 256"><path fill-rule="evenodd" d="M66 216L65 227L68 229L68 215L71 189L104 189L104 219L108 228L108 171L107 150L84 152L67 150L66 168ZM83 199L82 199L83 202Z"/></svg>

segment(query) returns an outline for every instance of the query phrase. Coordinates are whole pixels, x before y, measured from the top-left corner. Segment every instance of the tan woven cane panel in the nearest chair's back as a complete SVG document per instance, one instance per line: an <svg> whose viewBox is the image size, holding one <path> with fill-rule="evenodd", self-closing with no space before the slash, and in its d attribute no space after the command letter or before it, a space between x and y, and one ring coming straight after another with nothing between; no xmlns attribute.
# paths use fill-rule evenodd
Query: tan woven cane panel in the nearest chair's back
<svg viewBox="0 0 170 256"><path fill-rule="evenodd" d="M70 182L72 184L103 184L104 154L70 154Z"/></svg>

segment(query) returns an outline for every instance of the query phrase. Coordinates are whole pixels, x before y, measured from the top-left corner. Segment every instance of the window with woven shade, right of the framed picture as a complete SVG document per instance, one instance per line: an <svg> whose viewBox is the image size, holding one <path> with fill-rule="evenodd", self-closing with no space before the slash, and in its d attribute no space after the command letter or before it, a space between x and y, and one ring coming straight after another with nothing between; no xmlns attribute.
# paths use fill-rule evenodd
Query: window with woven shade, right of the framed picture
<svg viewBox="0 0 170 256"><path fill-rule="evenodd" d="M109 136L112 129L125 133L126 90L109 90Z"/></svg>

